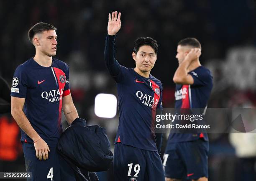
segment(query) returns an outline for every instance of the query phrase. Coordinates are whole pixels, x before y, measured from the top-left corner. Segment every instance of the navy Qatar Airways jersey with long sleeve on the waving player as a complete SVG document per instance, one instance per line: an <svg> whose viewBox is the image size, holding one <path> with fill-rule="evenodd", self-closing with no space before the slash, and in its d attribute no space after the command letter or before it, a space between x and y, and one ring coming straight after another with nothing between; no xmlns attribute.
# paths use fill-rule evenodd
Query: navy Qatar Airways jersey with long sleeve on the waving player
<svg viewBox="0 0 256 181"><path fill-rule="evenodd" d="M114 58L114 40L115 36L107 36L104 58L118 89L119 125L115 143L160 151L161 135L155 135L154 121L156 110L162 109L162 84L151 74L146 78L121 66Z"/></svg>

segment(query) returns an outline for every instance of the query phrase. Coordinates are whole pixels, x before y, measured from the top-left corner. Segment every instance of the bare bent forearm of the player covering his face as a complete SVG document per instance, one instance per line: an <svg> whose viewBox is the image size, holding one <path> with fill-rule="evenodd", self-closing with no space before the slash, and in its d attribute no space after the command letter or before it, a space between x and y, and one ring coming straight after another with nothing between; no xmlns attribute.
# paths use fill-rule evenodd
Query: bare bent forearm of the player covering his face
<svg viewBox="0 0 256 181"><path fill-rule="evenodd" d="M179 67L177 68L177 70L175 71L174 73L174 76L173 76L173 81L175 83L177 82L183 82L183 79L185 79L187 77L187 68L189 67L190 65L190 61L187 61L187 60L184 60L180 65Z"/></svg>

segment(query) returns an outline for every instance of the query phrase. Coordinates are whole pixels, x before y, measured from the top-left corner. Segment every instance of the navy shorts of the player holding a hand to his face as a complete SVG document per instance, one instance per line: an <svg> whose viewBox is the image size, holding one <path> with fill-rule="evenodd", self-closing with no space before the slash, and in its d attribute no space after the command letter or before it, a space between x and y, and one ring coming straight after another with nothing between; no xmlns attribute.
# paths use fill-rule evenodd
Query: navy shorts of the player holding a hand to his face
<svg viewBox="0 0 256 181"><path fill-rule="evenodd" d="M208 178L209 142L202 139L188 142L169 143L163 159L167 178Z"/></svg>

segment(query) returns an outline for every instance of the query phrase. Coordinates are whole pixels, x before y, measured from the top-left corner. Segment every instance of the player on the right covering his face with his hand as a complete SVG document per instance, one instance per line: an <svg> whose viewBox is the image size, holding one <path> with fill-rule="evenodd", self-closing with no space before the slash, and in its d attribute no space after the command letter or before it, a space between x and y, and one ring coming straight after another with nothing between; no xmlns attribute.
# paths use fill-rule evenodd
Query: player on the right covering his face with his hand
<svg viewBox="0 0 256 181"><path fill-rule="evenodd" d="M179 61L173 81L176 83L175 108L206 108L212 90L212 76L201 66L201 44L195 38L178 43ZM170 133L164 154L166 181L207 181L208 137L205 133Z"/></svg>

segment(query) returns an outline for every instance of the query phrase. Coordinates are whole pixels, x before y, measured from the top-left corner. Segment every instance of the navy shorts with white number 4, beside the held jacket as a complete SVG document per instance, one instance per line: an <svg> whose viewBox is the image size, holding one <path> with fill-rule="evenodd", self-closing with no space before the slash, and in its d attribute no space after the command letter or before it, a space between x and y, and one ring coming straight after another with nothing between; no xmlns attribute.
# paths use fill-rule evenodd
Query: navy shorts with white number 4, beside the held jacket
<svg viewBox="0 0 256 181"><path fill-rule="evenodd" d="M32 178L27 181L75 181L74 171L69 164L57 153L57 148L50 147L46 161L36 158L33 143L22 142L26 163L26 171L32 172Z"/></svg>

